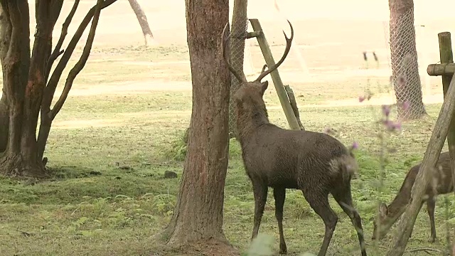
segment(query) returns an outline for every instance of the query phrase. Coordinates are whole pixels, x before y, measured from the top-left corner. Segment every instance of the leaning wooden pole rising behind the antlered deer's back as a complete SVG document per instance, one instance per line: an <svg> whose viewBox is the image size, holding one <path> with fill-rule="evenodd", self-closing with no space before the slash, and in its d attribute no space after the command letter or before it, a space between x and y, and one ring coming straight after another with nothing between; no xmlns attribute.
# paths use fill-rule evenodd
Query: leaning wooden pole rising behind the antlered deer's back
<svg viewBox="0 0 455 256"><path fill-rule="evenodd" d="M272 51L269 48L269 43L267 43L267 39L265 38L264 32L262 31L261 23L259 23L257 18L250 18L250 23L252 28L257 33L255 37L257 39L257 43L259 43L259 47L261 48L262 55L264 55L265 63L268 67L272 67L275 65L275 60L273 58ZM272 77L273 84L277 90L279 102L282 104L284 114L286 115L287 122L289 123L289 127L295 130L303 129L303 126L300 127L299 122L297 122L296 115L294 114L294 110L292 110L291 103L289 102L289 97L287 95L286 89L284 88L282 79L279 76L278 69L273 70L272 73L270 73L270 76Z"/></svg>

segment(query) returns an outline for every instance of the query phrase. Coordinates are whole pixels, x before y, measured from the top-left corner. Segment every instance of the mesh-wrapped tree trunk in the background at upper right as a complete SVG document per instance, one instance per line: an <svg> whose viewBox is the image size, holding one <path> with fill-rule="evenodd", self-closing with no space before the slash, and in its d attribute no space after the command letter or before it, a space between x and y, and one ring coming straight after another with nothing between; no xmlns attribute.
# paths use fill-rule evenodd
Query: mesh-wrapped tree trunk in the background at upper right
<svg viewBox="0 0 455 256"><path fill-rule="evenodd" d="M397 97L398 118L418 119L427 112L422 102L417 63L414 1L389 0L389 8L392 81Z"/></svg>

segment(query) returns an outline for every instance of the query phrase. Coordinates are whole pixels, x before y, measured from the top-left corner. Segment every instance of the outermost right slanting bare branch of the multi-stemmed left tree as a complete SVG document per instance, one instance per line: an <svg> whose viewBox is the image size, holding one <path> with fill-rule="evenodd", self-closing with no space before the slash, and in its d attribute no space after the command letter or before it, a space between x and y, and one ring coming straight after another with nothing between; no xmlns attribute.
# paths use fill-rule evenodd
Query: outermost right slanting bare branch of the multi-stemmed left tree
<svg viewBox="0 0 455 256"><path fill-rule="evenodd" d="M92 26L90 27L90 32L88 33L87 42L85 43L84 50L82 51L82 55L80 56L80 59L77 61L77 63L74 65L74 67L70 70L70 73L68 74L68 78L66 78L65 87L63 88L63 92L60 95L60 98L58 99L58 101L55 102L55 105L52 109L53 118L61 110L63 103L65 103L65 100L68 97L68 93L70 92L71 87L73 86L73 82L74 82L77 74L80 73L82 68L84 68L85 63L87 63L88 56L90 55L90 50L92 49L93 40L95 39L95 33L97 31L97 25L98 25L98 21L100 19L102 3L103 3L103 0L97 1L97 5L95 6L95 14L94 14L93 20L92 20Z"/></svg>

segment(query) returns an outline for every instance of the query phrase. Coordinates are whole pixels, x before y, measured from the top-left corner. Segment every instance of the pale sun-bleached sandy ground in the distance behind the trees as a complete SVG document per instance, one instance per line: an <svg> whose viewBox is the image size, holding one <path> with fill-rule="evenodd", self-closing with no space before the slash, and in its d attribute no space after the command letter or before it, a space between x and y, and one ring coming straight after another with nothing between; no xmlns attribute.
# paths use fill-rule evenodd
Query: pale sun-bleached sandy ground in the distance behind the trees
<svg viewBox="0 0 455 256"><path fill-rule="evenodd" d="M423 82L424 102L441 102L440 78L429 78L425 72L429 63L439 60L437 33L441 31L455 31L455 18L452 10L455 1L416 0L415 22L417 30L417 50L419 52L420 75ZM327 0L327 1L297 1L279 0L278 13L274 8L274 0L248 1L248 17L259 18L267 40L276 56L282 54L284 38L282 29L289 31L285 18L293 23L295 39L293 50L287 61L280 68L280 75L285 83L336 82L351 78L378 78L387 80L390 76L389 56L387 44L389 11L387 1L383 0ZM60 34L61 24L70 11L73 1L65 1L62 14L55 26L55 38ZM95 4L94 0L82 0L80 8L73 18L73 25L69 33L74 33L76 24L80 22L86 11ZM183 0L149 1L139 0L149 20L151 29L159 46L182 45L186 46L186 16ZM232 12L233 1L230 1ZM441 8L440 6L444 6ZM34 4L31 3L31 16L34 16ZM422 27L421 25L424 25ZM32 18L32 31L36 24ZM249 28L251 31L251 28ZM32 35L33 36L33 35ZM87 36L87 33L85 33ZM95 46L123 47L140 46L144 43L141 28L137 23L133 11L127 0L118 0L102 11L97 28ZM380 66L365 69L362 52L375 51L380 58ZM100 56L97 56L99 58ZM89 61L96 61L91 58ZM370 57L371 58L371 57ZM134 59L117 60L125 65L149 65L154 68L159 65L188 66L188 61L168 62L139 62ZM257 75L262 68L262 55L257 42L247 43L247 57L245 58L245 73ZM370 62L370 67L375 63ZM81 75L84 75L82 73ZM109 90L106 90L109 87ZM151 77L149 81L124 81L112 85L97 85L83 90L73 88L71 95L95 95L109 91L113 94L141 93L154 90L191 90L190 82L170 82L162 78ZM365 104L380 105L393 102L393 95L381 97ZM330 105L358 105L353 99L326 102Z"/></svg>

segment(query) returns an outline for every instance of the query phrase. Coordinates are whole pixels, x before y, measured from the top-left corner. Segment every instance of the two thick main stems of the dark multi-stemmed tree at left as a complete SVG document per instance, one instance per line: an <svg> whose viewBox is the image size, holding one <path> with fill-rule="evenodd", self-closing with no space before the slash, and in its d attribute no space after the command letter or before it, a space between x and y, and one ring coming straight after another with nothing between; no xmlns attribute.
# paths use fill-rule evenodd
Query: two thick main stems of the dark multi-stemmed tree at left
<svg viewBox="0 0 455 256"><path fill-rule="evenodd" d="M45 176L45 169L36 154L36 125L42 88L45 87L44 68L50 51L48 38L52 38L55 23L49 21L48 16L57 5L49 1L36 2L37 26L32 58L28 1L20 0L16 4L2 1L1 5L3 10L8 10L4 13L4 23L11 26L11 30L2 31L3 40L10 38L11 42L6 55L1 55L4 92L9 103L9 141L0 161L0 171L41 177Z"/></svg>

